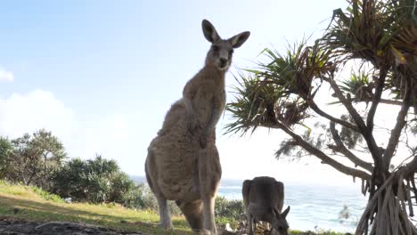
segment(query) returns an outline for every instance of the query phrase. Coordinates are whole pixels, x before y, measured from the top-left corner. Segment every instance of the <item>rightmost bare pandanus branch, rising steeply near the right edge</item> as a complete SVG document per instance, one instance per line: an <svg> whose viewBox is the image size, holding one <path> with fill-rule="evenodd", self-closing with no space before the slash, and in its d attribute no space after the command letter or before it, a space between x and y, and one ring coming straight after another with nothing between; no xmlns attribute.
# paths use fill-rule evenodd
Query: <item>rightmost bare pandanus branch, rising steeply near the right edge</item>
<svg viewBox="0 0 417 235"><path fill-rule="evenodd" d="M391 158L394 155L394 151L397 148L398 140L401 135L401 132L403 131L404 126L406 125L405 118L407 117L408 109L410 109L410 106L412 104L412 88L411 83L409 80L405 83L405 96L403 100L403 105L401 106L401 109L397 115L397 124L391 131L391 136L389 137L387 148L384 151L384 164L386 167L386 170L389 169L389 164L391 163Z"/></svg>

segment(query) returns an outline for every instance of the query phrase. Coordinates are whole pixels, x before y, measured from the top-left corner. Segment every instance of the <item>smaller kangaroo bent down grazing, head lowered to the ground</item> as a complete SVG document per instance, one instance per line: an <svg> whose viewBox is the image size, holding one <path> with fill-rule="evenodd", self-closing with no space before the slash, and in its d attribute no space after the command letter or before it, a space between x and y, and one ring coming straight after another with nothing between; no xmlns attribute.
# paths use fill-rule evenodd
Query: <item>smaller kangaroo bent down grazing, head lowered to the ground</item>
<svg viewBox="0 0 417 235"><path fill-rule="evenodd" d="M249 235L257 233L259 221L270 223L279 235L288 234L289 226L285 217L290 212L290 206L281 213L284 200L282 182L267 176L255 177L243 182L241 193L248 216ZM255 223L253 231L252 223Z"/></svg>

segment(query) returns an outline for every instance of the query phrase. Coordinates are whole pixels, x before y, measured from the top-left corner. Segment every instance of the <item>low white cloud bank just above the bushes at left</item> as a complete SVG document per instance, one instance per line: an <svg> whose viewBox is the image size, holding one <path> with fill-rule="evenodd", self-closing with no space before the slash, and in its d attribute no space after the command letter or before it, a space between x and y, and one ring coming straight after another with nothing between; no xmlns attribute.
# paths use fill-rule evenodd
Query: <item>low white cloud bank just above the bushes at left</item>
<svg viewBox="0 0 417 235"><path fill-rule="evenodd" d="M129 139L128 121L121 114L110 114L93 124L81 123L51 92L35 90L0 97L0 136L17 138L41 128L57 136L71 158L94 158L99 153L118 160L122 170L132 162L135 139Z"/></svg>

